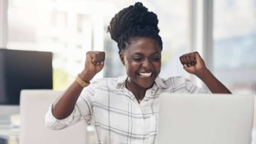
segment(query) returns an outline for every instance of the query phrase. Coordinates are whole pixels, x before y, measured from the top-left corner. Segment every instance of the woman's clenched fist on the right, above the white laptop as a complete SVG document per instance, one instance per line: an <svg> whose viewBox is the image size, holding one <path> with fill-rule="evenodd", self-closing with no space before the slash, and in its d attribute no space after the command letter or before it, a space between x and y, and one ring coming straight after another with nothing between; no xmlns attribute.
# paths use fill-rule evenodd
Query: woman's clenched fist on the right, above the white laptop
<svg viewBox="0 0 256 144"><path fill-rule="evenodd" d="M202 70L206 69L204 60L198 52L191 52L180 56L180 62L184 69L190 74L197 75Z"/></svg>

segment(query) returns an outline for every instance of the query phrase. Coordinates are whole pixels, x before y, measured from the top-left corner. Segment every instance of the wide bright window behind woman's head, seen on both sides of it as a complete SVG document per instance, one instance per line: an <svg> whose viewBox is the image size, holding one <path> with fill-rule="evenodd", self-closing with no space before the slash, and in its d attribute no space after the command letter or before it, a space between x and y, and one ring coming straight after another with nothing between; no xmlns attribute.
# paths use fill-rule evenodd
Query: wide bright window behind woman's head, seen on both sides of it
<svg viewBox="0 0 256 144"><path fill-rule="evenodd" d="M54 53L54 89L67 88L83 69L86 51L106 51L98 77L124 76L117 44L106 33L116 12L136 1L8 0L8 49ZM179 56L188 52L188 0L143 1L157 13L163 38L161 76L184 76ZM166 19L168 18L168 19Z"/></svg>

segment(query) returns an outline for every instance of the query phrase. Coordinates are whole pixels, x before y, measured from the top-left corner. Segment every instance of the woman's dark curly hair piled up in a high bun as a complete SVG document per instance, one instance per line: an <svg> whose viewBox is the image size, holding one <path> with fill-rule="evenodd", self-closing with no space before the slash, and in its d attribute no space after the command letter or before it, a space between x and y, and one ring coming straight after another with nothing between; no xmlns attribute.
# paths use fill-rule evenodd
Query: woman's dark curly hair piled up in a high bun
<svg viewBox="0 0 256 144"><path fill-rule="evenodd" d="M131 38L143 36L156 40L162 50L163 42L157 24L156 13L148 12L148 8L138 2L116 13L108 26L108 32L117 42L119 53L129 45Z"/></svg>

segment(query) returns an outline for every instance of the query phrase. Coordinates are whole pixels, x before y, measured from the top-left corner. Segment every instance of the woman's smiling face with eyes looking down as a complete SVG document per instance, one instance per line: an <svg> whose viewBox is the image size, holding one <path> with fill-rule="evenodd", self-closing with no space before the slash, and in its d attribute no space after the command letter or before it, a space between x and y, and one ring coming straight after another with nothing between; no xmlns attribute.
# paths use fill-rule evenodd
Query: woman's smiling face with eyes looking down
<svg viewBox="0 0 256 144"><path fill-rule="evenodd" d="M150 88L161 71L161 49L156 40L132 38L131 44L120 54L131 84Z"/></svg>

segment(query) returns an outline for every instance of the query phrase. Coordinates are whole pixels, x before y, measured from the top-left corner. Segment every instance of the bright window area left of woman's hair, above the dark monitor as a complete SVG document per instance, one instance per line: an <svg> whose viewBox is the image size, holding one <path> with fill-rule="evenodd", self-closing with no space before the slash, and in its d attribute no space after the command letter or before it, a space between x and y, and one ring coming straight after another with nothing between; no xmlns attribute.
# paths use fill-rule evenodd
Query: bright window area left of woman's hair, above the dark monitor
<svg viewBox="0 0 256 144"><path fill-rule="evenodd" d="M104 20L114 15L112 3L8 2L8 49L53 52L55 90L67 88L83 70L86 51L104 50Z"/></svg>

